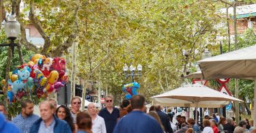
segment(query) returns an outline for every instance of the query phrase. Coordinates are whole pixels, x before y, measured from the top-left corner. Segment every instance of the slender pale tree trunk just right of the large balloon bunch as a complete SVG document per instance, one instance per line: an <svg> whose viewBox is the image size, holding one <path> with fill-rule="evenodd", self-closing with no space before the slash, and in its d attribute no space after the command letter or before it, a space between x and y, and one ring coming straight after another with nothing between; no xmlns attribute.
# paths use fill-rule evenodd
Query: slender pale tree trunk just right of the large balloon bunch
<svg viewBox="0 0 256 133"><path fill-rule="evenodd" d="M75 96L75 87L76 87L76 45L77 42L74 42L72 45L72 70L71 70L71 97Z"/></svg>

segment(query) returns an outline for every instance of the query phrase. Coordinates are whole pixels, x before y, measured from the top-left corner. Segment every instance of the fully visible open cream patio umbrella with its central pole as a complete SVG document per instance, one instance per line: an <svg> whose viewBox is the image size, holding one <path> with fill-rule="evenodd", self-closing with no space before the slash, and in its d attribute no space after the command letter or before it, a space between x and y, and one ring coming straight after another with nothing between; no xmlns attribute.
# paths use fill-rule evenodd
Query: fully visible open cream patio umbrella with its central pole
<svg viewBox="0 0 256 133"><path fill-rule="evenodd" d="M195 104L195 107L199 107L199 102L204 101L207 104L207 101L239 101L238 98L233 98L230 95L226 95L209 87L205 87L200 84L185 85L184 87L179 87L173 89L166 93L160 95L155 95L152 98L172 98L177 100L184 100L192 102ZM220 103L221 104L221 103ZM197 111L196 111L197 116ZM197 118L197 117L196 117ZM197 121L197 119L196 119Z"/></svg>

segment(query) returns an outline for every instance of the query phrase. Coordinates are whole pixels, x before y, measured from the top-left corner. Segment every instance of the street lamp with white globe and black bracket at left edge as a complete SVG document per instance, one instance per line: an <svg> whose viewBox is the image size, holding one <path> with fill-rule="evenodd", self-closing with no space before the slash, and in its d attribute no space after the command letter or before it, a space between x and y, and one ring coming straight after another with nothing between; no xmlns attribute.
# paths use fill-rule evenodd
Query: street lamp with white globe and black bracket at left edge
<svg viewBox="0 0 256 133"><path fill-rule="evenodd" d="M12 55L14 55L14 46L18 46L18 44L14 43L14 40L16 40L20 34L20 23L18 23L14 14L7 18L7 22L5 22L4 28L5 34L7 35L7 38L11 40L11 43L0 44L0 46L10 46L12 48Z"/></svg>

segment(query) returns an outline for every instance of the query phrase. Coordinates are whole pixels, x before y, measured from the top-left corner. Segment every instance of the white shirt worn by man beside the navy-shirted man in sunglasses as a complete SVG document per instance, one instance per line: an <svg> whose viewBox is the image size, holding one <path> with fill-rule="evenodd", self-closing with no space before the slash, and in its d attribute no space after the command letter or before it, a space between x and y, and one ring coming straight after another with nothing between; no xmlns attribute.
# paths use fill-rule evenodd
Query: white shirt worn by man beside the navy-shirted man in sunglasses
<svg viewBox="0 0 256 133"><path fill-rule="evenodd" d="M106 125L102 117L97 115L96 119L92 120L91 131L93 133L106 133Z"/></svg>

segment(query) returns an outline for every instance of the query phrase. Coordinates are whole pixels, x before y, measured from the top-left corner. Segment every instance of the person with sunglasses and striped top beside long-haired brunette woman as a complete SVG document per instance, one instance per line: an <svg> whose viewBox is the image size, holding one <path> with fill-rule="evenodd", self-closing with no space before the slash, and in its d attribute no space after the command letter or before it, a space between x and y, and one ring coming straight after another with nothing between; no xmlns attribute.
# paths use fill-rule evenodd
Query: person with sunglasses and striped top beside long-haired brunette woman
<svg viewBox="0 0 256 133"><path fill-rule="evenodd" d="M81 98L79 96L75 96L71 99L71 116L73 118L74 128L77 131L78 127L76 125L76 115L80 113L80 107L81 107Z"/></svg>

